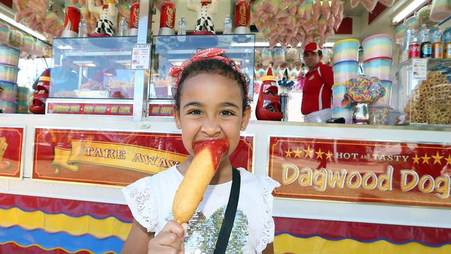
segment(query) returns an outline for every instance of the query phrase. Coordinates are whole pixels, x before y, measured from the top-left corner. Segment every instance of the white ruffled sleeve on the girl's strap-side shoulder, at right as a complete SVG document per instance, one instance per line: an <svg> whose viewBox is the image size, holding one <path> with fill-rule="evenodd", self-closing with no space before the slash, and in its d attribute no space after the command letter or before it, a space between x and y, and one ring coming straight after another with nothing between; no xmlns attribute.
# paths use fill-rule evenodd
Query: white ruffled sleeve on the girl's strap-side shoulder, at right
<svg viewBox="0 0 451 254"><path fill-rule="evenodd" d="M260 184L262 185L262 230L260 232L259 238L257 240L257 248L255 251L257 253L262 253L266 248L267 244L274 241L274 219L273 219L273 203L274 197L272 195L273 189L280 187L280 184L269 178L268 176L259 176Z"/></svg>

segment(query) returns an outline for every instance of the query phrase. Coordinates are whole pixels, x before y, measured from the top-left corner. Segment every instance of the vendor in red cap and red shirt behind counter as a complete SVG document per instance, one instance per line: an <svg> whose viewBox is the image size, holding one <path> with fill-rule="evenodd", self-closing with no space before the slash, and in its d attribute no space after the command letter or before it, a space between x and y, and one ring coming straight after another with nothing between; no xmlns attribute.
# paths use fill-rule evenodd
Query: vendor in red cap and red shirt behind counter
<svg viewBox="0 0 451 254"><path fill-rule="evenodd" d="M332 117L331 98L334 74L332 67L323 65L323 53L316 42L310 42L304 47L304 62L309 68L303 87L303 101L300 111L304 121L324 123Z"/></svg>

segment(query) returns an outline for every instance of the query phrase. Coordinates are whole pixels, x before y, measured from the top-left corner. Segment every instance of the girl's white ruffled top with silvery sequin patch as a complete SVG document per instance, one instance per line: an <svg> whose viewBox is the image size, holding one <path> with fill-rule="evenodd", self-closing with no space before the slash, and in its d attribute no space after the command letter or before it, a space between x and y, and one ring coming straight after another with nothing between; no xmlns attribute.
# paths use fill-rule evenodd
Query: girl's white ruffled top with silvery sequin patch
<svg viewBox="0 0 451 254"><path fill-rule="evenodd" d="M266 244L273 242L274 239L271 193L280 184L268 176L256 176L243 168L239 168L239 172L241 189L227 253L262 253ZM157 235L172 218L173 197L182 179L182 174L176 166L173 166L155 176L139 179L122 189L133 217L148 232L155 232ZM189 230L202 232L188 231L189 234L185 235L185 253L211 251L209 249L211 243L205 242L209 235L219 232L216 226L218 223L215 220L219 217L223 218L223 210L228 203L231 187L232 181L207 187L203 201L193 217L196 219L189 221ZM218 216L218 214L221 215ZM217 234L212 237L208 241L215 243Z"/></svg>

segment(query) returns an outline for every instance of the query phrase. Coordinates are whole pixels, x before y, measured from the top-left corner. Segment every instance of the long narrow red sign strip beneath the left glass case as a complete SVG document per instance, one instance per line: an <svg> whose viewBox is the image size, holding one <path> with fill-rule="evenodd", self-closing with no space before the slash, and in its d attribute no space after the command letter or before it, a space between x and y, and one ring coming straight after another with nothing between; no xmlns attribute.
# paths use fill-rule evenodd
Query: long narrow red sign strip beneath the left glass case
<svg viewBox="0 0 451 254"><path fill-rule="evenodd" d="M133 115L133 105L94 103L48 103L49 114Z"/></svg>

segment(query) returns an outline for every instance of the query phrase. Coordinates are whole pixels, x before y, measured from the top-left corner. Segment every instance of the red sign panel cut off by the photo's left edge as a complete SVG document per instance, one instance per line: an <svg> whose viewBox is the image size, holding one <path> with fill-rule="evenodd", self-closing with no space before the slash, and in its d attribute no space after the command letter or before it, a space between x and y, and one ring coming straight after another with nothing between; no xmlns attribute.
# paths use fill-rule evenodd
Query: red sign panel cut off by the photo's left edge
<svg viewBox="0 0 451 254"><path fill-rule="evenodd" d="M0 127L0 176L22 178L24 128Z"/></svg>

